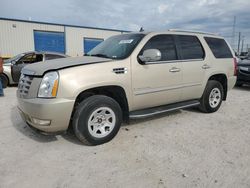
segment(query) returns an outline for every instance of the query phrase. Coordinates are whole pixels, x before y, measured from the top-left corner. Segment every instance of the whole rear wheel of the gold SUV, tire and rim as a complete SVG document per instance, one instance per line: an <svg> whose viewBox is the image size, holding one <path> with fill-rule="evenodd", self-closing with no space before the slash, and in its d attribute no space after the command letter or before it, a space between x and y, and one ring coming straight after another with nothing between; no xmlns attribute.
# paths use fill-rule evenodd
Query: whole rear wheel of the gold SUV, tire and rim
<svg viewBox="0 0 250 188"><path fill-rule="evenodd" d="M200 99L199 109L204 113L216 112L222 103L224 93L220 82L209 80Z"/></svg>

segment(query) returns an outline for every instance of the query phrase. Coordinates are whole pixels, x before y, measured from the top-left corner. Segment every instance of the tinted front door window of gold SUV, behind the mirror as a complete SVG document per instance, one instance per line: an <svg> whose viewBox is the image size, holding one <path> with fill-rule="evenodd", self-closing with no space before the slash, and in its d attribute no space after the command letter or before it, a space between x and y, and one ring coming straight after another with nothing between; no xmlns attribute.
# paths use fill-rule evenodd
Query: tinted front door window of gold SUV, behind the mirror
<svg viewBox="0 0 250 188"><path fill-rule="evenodd" d="M157 35L152 37L146 45L143 47L140 54L147 49L158 49L161 51L161 60L160 61L170 61L176 60L176 48L173 36L171 35Z"/></svg>

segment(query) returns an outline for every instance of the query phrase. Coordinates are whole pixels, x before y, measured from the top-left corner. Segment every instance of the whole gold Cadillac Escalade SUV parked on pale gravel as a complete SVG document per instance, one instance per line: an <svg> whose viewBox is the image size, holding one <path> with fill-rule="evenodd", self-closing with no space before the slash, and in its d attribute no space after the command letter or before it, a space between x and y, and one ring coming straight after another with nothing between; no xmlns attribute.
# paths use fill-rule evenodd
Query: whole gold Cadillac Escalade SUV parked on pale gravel
<svg viewBox="0 0 250 188"><path fill-rule="evenodd" d="M110 37L84 57L26 66L18 109L41 132L72 126L80 141L98 145L131 118L191 106L215 112L235 81L236 61L220 36L129 33Z"/></svg>

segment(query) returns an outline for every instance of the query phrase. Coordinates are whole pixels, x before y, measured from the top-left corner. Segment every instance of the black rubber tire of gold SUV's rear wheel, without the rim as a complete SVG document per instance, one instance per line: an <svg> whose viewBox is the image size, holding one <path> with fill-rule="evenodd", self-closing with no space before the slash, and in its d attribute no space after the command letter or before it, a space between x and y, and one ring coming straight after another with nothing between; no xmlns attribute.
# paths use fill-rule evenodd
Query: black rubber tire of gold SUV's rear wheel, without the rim
<svg viewBox="0 0 250 188"><path fill-rule="evenodd" d="M210 93L212 92L212 90L215 88L218 88L220 90L221 100L220 100L219 104L215 108L213 108L213 107L211 107L211 105L209 103L209 96L210 96ZM204 100L203 104L204 104L204 108L206 109L206 111L209 113L216 112L221 106L223 96L224 96L224 93L223 93L223 87L222 87L221 83L218 81L215 81L215 80L210 80L208 82L208 85L206 87L206 91L205 91L204 97L203 97L203 100Z"/></svg>

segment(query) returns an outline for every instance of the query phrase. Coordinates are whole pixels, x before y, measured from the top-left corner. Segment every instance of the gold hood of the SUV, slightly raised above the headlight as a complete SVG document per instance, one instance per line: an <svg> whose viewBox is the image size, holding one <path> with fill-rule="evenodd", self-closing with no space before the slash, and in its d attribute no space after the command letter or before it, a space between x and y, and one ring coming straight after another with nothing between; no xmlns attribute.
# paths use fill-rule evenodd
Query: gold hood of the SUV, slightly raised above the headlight
<svg viewBox="0 0 250 188"><path fill-rule="evenodd" d="M68 67L103 63L108 61L112 61L112 59L91 56L61 58L27 65L22 69L22 73L27 75L42 76L49 70L59 70Z"/></svg>

